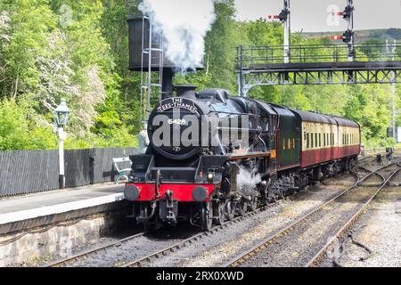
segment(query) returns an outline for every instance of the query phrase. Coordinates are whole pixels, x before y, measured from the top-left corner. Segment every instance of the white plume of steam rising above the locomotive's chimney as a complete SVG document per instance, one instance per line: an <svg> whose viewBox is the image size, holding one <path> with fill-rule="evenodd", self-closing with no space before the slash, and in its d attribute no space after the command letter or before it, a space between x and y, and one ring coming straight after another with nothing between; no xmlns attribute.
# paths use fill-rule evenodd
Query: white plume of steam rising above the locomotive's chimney
<svg viewBox="0 0 401 285"><path fill-rule="evenodd" d="M216 0L143 0L139 9L165 38L165 56L177 69L195 70L202 63L206 33L216 20Z"/></svg>

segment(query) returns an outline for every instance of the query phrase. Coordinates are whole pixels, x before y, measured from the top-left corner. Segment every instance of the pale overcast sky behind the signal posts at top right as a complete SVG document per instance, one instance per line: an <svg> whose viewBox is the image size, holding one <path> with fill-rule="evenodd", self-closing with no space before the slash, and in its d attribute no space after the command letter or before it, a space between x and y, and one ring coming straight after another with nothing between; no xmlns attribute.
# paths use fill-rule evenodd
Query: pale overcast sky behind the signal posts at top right
<svg viewBox="0 0 401 285"><path fill-rule="evenodd" d="M291 31L325 32L347 29L342 17L332 19L329 7L343 11L346 0L291 0ZM267 18L279 14L282 0L235 0L238 20ZM334 6L332 6L334 5ZM355 29L401 28L401 0L354 0Z"/></svg>

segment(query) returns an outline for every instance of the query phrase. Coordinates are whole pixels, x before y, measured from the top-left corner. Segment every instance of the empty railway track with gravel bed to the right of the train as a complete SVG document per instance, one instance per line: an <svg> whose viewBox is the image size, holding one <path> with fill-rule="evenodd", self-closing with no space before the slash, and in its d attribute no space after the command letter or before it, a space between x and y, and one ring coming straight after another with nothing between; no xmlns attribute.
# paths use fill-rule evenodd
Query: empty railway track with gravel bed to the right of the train
<svg viewBox="0 0 401 285"><path fill-rule="evenodd" d="M396 170L391 171L390 175L386 178L384 175L381 175L380 172L386 171L389 167L397 167ZM350 218L347 219L345 223L343 223L343 226L340 228L338 232L336 232L334 235L331 235L330 240L327 242L323 242L323 247L321 247L320 250L316 250L313 257L308 259L306 262L300 261L300 263L303 264L303 266L316 266L319 265L319 263L323 260L324 256L327 254L327 250L331 247L331 245L341 237L343 237L347 232L348 229L356 223L358 218L362 216L364 213L364 210L369 206L371 203L372 199L376 197L376 195L384 188L386 185L389 183L391 178L397 174L398 171L400 171L401 167L401 161L398 162L397 164L389 164L384 167L380 167L374 171L369 170L368 175L364 175L363 178L358 179L358 181L351 187L349 187L347 190L342 191L339 195L335 196L333 199L330 199L326 203L324 203L321 207L315 208L315 210L309 212L305 216L301 216L299 219L297 219L295 222L291 223L290 225L286 226L284 229L282 229L279 232L274 233L273 236L270 236L266 238L265 240L262 240L259 242L256 246L250 248L250 250L247 250L246 252L241 253L240 255L234 256L230 261L225 263L223 266L225 267L236 267L236 266L241 266L241 265L250 265L253 264L256 265L260 260L264 259L265 260L265 265L273 265L276 266L274 261L272 262L272 258L274 259L274 256L268 257L268 254L274 255L274 253L277 256L284 256L284 260L286 258L289 258L286 256L286 254L289 254L286 252L288 248L291 248L291 246L294 246L294 243L292 242L297 242L297 234L302 235L305 233L309 227L309 225L313 229L313 224L308 224L308 221L314 221L313 219L315 218L315 222L318 221L318 219L323 218L322 215L324 214L324 211L327 211L328 208L333 207L334 204L337 203L340 199L344 199L346 195L351 193L351 191L354 191L359 188L364 182L366 182L369 178L371 178L373 175L377 175L381 178L381 183L379 186L376 186L375 191L370 193L368 191L369 195L366 195L367 197L364 197L361 200L364 200L363 202L360 202L362 205L360 208L356 210L356 213L352 215ZM364 171L367 171L368 169L364 168ZM345 203L346 204L346 203ZM353 209L355 210L355 209ZM332 210L334 211L334 210ZM317 218L317 220L316 220ZM316 223L317 224L317 223ZM309 227L309 230L310 228ZM318 231L316 231L318 232ZM291 234L293 236L291 236ZM299 236L298 236L299 237ZM293 240L291 240L293 239ZM322 241L322 240L321 240ZM326 240L324 240L326 241ZM280 244L282 243L282 246L280 247ZM314 244L315 245L315 244ZM275 248L274 248L275 247ZM273 249L272 249L273 248ZM300 252L302 250L305 250L305 248L299 249ZM292 252L294 253L294 252ZM297 252L296 252L297 253ZM299 252L298 252L299 253ZM297 253L297 254L298 254ZM307 254L310 255L308 251L306 251ZM263 256L263 258L262 258ZM267 257L266 257L267 256ZM298 257L298 256L297 256ZM299 259L302 259L302 257L299 257ZM266 261L267 260L267 261Z"/></svg>

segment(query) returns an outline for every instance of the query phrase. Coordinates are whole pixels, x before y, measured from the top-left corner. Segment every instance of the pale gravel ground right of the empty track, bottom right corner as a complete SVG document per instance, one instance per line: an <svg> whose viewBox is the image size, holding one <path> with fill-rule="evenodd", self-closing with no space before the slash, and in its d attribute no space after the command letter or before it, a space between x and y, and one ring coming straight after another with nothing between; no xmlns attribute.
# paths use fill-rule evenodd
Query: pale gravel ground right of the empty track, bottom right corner
<svg viewBox="0 0 401 285"><path fill-rule="evenodd" d="M400 178L398 175L394 182L401 182ZM348 239L339 260L341 266L401 266L401 187L384 189L351 232L372 254ZM326 258L322 266L332 266L331 260Z"/></svg>

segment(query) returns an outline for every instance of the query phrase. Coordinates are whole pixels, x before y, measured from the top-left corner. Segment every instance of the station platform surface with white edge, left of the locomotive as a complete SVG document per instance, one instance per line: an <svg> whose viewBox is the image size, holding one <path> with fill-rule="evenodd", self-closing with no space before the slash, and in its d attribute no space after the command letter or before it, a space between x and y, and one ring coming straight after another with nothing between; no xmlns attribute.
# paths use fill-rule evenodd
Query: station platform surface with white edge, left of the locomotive
<svg viewBox="0 0 401 285"><path fill-rule="evenodd" d="M0 235L120 208L124 184L102 183L0 199Z"/></svg>

